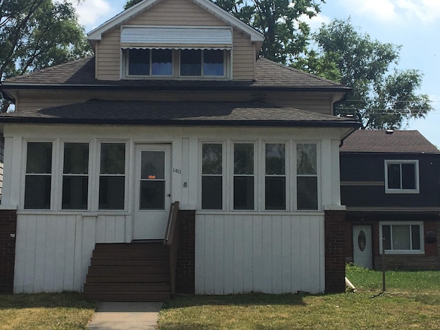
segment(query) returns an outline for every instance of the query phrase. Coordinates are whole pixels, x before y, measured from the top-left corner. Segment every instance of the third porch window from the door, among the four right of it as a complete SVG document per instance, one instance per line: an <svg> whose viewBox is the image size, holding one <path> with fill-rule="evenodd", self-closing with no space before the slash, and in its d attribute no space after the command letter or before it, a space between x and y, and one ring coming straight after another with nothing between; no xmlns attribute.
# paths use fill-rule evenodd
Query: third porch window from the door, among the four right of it
<svg viewBox="0 0 440 330"><path fill-rule="evenodd" d="M265 209L286 209L285 144L265 144Z"/></svg>

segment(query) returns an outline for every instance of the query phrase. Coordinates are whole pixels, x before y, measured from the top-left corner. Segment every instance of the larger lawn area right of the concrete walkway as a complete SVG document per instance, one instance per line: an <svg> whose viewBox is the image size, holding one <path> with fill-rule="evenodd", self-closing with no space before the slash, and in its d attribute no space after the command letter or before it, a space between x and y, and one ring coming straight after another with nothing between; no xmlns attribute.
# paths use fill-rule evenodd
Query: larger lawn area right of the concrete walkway
<svg viewBox="0 0 440 330"><path fill-rule="evenodd" d="M159 314L159 330L440 329L440 272L347 267L358 288L344 294L239 294L178 297Z"/></svg>

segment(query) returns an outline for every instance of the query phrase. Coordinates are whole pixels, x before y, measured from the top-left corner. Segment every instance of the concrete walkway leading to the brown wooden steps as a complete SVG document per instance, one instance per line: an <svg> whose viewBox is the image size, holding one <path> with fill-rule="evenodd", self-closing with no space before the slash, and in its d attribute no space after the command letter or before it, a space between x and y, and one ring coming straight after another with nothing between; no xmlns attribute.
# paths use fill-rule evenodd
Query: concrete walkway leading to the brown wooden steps
<svg viewBox="0 0 440 330"><path fill-rule="evenodd" d="M89 330L154 330L164 303L100 303Z"/></svg>

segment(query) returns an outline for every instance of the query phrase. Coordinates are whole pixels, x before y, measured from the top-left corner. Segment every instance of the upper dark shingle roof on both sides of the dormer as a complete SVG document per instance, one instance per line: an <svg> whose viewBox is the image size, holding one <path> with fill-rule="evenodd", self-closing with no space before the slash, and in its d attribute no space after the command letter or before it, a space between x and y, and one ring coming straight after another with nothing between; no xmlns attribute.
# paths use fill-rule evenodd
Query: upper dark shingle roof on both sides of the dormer
<svg viewBox="0 0 440 330"><path fill-rule="evenodd" d="M256 61L256 80L97 80L95 57L48 67L38 72L5 80L3 89L38 87L99 87L151 89L313 89L347 91L349 88L292 67L278 65L265 58Z"/></svg>

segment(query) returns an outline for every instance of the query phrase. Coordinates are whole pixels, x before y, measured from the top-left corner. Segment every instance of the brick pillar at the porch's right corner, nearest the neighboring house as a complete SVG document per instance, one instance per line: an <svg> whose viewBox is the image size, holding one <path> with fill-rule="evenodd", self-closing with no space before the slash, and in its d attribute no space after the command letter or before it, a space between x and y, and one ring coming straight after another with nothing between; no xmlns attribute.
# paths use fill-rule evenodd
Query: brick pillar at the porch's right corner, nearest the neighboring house
<svg viewBox="0 0 440 330"><path fill-rule="evenodd" d="M345 292L345 211L325 211L325 292Z"/></svg>

